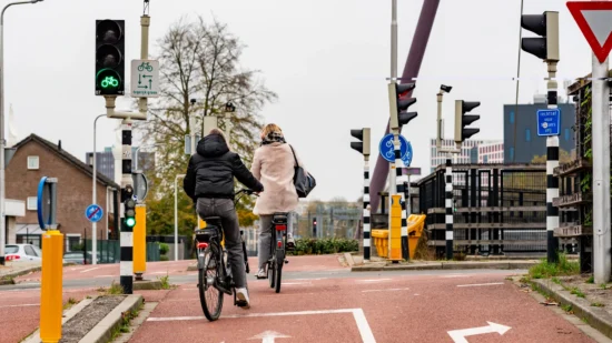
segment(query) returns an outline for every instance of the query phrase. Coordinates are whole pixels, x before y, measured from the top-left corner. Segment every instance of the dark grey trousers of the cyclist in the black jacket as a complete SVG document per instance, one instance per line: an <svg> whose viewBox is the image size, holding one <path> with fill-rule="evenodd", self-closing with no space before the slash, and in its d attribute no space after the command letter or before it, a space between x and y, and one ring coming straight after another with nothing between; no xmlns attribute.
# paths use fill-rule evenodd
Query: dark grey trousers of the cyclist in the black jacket
<svg viewBox="0 0 612 343"><path fill-rule="evenodd" d="M206 216L219 216L224 226L225 248L227 259L231 266L231 276L237 289L246 286L245 256L240 242L240 226L238 215L230 199L200 198L197 203L198 214Z"/></svg>

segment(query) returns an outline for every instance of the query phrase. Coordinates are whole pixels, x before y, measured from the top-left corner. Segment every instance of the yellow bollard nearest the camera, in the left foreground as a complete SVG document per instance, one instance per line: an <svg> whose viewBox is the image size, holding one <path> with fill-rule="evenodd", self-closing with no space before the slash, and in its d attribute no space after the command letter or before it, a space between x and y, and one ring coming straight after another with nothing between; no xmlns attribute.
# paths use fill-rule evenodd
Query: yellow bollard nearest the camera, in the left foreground
<svg viewBox="0 0 612 343"><path fill-rule="evenodd" d="M49 230L42 235L42 278L40 282L40 340L61 339L63 234Z"/></svg>

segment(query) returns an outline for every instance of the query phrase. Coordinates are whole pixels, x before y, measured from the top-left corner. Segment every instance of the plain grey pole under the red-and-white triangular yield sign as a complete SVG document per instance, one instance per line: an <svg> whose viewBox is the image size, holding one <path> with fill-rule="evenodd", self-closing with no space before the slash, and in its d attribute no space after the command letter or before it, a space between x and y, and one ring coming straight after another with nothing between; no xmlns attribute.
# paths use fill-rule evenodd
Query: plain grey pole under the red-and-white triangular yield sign
<svg viewBox="0 0 612 343"><path fill-rule="evenodd" d="M610 87L608 58L600 63L593 54L592 145L593 145L593 278L610 282Z"/></svg>

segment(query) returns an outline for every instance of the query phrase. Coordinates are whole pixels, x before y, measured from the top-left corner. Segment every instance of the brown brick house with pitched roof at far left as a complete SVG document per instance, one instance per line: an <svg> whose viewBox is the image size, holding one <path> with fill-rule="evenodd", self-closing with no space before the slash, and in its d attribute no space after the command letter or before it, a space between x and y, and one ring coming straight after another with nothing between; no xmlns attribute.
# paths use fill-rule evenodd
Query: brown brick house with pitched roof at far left
<svg viewBox="0 0 612 343"><path fill-rule="evenodd" d="M92 168L36 134L30 134L17 143L12 160L6 171L6 195L26 203L26 215L17 218L14 232L8 233L8 242L40 245L42 231L37 219L37 191L42 176L58 179L57 222L66 236L66 249L82 238L91 239L91 223L85 210L91 204ZM97 172L97 203L106 215L97 224L98 239L108 239L108 228L113 226L113 198L120 186L100 172ZM108 195L108 196L107 196ZM110 211L109 211L110 209Z"/></svg>

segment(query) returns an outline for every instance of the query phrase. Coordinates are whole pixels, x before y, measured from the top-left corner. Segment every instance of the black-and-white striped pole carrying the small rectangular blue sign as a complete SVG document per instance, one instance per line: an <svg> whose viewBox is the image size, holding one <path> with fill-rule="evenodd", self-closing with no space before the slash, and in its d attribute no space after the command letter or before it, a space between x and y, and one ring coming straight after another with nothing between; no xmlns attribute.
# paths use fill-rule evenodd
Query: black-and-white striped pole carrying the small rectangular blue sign
<svg viewBox="0 0 612 343"><path fill-rule="evenodd" d="M547 61L549 65L549 109L556 110L556 61ZM554 229L559 228L559 208L553 205L553 199L559 196L559 178L553 174L559 167L559 135L546 138L546 258L549 263L559 262L559 241L554 238Z"/></svg>

